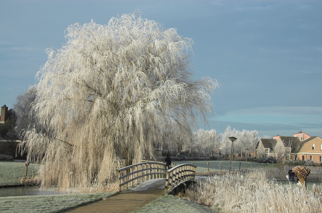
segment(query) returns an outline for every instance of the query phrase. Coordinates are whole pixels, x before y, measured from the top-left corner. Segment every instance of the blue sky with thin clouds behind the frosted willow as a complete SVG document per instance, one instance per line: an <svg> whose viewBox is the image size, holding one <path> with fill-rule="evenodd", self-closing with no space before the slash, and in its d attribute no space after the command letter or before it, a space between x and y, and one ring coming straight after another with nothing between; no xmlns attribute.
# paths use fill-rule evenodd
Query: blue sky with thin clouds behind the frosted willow
<svg viewBox="0 0 322 213"><path fill-rule="evenodd" d="M322 2L0 0L0 105L35 83L46 48L60 49L70 24L107 24L140 9L194 40L195 79L221 83L209 127L259 136L322 136Z"/></svg>

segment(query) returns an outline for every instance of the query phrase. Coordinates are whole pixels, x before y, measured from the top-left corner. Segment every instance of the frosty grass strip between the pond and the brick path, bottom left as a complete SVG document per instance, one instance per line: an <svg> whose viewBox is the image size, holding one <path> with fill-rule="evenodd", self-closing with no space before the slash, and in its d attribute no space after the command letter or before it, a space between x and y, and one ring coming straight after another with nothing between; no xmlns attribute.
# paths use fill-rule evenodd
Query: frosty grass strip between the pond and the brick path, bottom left
<svg viewBox="0 0 322 213"><path fill-rule="evenodd" d="M89 204L116 194L87 193L65 195L34 195L17 197L0 197L1 213L34 213L34 212L62 212Z"/></svg>

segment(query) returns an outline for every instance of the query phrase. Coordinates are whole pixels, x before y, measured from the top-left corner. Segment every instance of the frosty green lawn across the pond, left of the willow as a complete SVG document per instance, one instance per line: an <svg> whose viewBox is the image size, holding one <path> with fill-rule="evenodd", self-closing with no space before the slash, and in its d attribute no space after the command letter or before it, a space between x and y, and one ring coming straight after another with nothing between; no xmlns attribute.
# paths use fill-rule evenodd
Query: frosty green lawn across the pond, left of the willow
<svg viewBox="0 0 322 213"><path fill-rule="evenodd" d="M28 166L27 177L31 178L37 174L39 164L31 163ZM19 178L24 178L26 166L24 162L0 162L0 185L19 184Z"/></svg>

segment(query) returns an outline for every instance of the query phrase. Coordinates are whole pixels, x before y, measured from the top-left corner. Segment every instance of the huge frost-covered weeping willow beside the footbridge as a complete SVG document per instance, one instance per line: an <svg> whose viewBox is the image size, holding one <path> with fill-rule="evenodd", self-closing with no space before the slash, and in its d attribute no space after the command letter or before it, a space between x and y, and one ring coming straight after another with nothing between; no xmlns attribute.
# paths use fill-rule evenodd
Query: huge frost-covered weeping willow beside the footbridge
<svg viewBox="0 0 322 213"><path fill-rule="evenodd" d="M135 12L66 32L66 43L48 49L37 73L33 109L46 134L25 134L28 159L43 164L43 187L113 181L120 159L129 165L152 156L169 125L190 131L212 112L218 83L192 79L193 41L176 29Z"/></svg>

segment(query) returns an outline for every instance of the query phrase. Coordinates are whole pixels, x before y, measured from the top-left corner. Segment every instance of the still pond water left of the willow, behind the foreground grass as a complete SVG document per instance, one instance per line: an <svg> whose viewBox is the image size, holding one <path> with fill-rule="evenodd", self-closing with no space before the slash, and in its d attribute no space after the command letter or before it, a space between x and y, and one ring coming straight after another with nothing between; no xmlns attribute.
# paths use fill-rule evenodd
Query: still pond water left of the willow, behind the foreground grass
<svg viewBox="0 0 322 213"><path fill-rule="evenodd" d="M0 188L0 197L9 196L26 196L26 195L59 195L61 192L55 191L52 187L48 190L39 190L39 187L34 186L17 186L17 187L2 187Z"/></svg>

